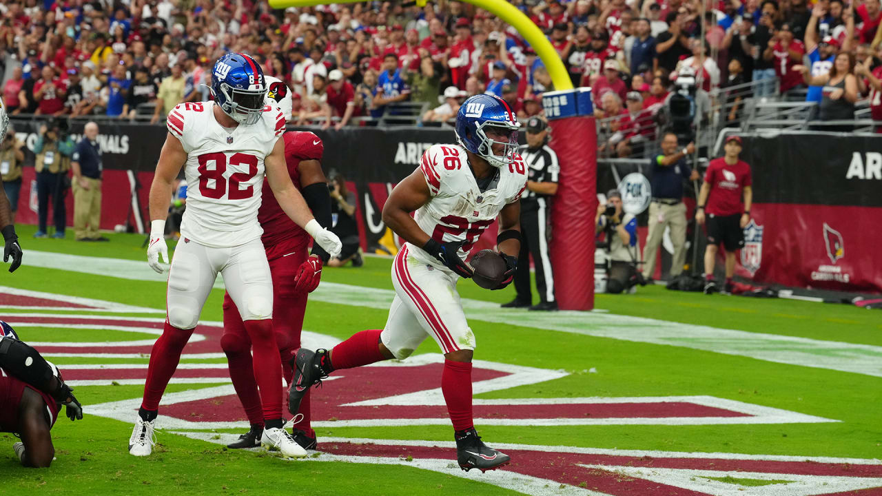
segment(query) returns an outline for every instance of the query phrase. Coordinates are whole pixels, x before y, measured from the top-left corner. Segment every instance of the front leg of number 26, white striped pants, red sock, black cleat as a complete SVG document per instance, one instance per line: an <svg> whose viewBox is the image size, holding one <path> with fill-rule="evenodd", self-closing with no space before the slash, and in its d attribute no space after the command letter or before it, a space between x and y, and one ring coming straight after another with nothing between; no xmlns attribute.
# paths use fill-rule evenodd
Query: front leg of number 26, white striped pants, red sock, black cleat
<svg viewBox="0 0 882 496"><path fill-rule="evenodd" d="M424 264L408 263L407 247L402 252L404 256L396 257L392 263L392 283L403 304L444 352L441 391L453 424L460 467L482 471L501 467L509 462L509 456L485 445L475 431L472 418L475 334L468 327L460 304L457 278Z"/></svg>

